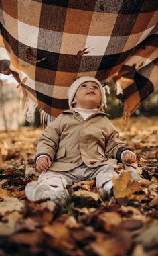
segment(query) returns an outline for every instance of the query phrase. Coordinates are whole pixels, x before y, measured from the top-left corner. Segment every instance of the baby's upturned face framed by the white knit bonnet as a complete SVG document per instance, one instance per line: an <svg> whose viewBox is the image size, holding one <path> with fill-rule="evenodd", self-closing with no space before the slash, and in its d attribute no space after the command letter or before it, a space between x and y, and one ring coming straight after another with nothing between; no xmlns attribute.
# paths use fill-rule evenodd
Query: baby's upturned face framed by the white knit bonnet
<svg viewBox="0 0 158 256"><path fill-rule="evenodd" d="M73 107L93 109L98 108L101 104L102 97L100 87L91 81L82 83L72 101Z"/></svg>

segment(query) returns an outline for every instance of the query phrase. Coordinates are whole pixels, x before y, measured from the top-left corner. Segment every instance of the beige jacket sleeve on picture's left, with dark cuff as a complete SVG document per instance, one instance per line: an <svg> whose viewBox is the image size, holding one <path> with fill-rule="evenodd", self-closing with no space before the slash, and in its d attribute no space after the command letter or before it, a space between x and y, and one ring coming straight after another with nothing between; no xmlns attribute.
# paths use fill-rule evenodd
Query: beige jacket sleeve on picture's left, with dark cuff
<svg viewBox="0 0 158 256"><path fill-rule="evenodd" d="M51 122L46 129L37 145L37 153L35 155L35 161L40 155L46 155L50 157L50 159L54 159L54 155L56 155L56 151L58 149L58 143L60 140L60 121L62 116L58 116L53 122Z"/></svg>

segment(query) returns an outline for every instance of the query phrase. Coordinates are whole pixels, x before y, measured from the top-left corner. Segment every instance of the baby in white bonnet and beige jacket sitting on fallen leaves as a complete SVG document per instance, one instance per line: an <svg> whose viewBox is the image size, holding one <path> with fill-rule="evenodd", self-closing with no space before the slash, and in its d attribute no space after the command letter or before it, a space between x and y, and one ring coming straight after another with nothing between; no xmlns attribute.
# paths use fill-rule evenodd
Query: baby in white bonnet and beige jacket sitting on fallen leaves
<svg viewBox="0 0 158 256"><path fill-rule="evenodd" d="M90 179L110 194L117 161L135 162L135 154L100 110L104 97L102 84L94 77L80 77L69 87L70 110L51 122L38 142L35 161L41 174L25 187L29 200L63 198L66 185ZM131 180L137 179L130 173Z"/></svg>

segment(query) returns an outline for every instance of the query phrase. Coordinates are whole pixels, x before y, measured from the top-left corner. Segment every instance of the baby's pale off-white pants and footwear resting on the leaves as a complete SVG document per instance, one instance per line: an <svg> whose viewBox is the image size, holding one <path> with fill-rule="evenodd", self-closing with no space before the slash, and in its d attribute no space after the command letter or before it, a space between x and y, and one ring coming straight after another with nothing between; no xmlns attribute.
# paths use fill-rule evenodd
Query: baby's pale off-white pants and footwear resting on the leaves
<svg viewBox="0 0 158 256"><path fill-rule="evenodd" d="M101 165L90 168L85 164L72 169L71 171L46 171L41 173L38 181L29 182L25 187L25 195L29 200L37 201L44 198L56 200L64 198L68 193L66 185L72 185L78 181L96 179L96 187L110 194L112 189L112 177L119 175L114 171L117 165ZM137 173L128 171L131 181L137 180Z"/></svg>

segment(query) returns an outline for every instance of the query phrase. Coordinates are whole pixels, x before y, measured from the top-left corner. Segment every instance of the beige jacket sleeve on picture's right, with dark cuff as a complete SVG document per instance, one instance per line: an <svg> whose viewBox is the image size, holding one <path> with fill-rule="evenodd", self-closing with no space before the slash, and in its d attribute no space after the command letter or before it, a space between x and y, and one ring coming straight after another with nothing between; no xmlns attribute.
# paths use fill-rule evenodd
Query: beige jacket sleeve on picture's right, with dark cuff
<svg viewBox="0 0 158 256"><path fill-rule="evenodd" d="M107 158L117 159L119 162L121 161L121 153L126 150L131 150L128 148L125 143L120 140L119 132L114 128L113 124L108 120L108 136L106 137L106 145L105 145L105 155Z"/></svg>

